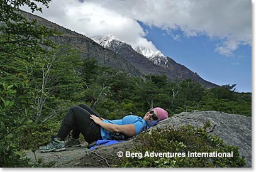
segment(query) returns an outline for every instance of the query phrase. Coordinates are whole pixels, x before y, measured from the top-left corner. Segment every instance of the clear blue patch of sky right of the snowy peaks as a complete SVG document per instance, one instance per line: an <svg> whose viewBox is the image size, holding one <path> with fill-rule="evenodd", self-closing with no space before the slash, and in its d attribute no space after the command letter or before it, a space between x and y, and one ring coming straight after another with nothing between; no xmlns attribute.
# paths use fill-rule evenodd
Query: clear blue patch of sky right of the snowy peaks
<svg viewBox="0 0 256 172"><path fill-rule="evenodd" d="M214 51L220 40L206 35L174 40L165 30L139 22L147 32L147 40L154 43L165 56L185 65L209 82L218 85L237 84L238 92L252 92L252 46L240 46L232 56ZM183 35L181 30L175 35Z"/></svg>

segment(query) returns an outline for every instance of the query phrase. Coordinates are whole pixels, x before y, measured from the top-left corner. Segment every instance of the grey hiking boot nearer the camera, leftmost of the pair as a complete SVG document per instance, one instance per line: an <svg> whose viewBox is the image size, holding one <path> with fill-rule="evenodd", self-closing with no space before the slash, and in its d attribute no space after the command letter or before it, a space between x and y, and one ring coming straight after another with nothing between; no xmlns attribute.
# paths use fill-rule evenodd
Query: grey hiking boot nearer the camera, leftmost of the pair
<svg viewBox="0 0 256 172"><path fill-rule="evenodd" d="M39 151L42 153L52 152L52 151L64 151L65 144L58 137L52 137L51 141L46 146L40 146Z"/></svg>

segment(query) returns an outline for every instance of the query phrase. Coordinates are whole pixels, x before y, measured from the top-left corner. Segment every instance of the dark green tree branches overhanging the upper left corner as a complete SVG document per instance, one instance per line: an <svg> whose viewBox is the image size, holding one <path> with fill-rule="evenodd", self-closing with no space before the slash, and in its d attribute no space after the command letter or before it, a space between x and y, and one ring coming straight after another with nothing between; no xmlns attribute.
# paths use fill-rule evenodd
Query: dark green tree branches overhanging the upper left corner
<svg viewBox="0 0 256 172"><path fill-rule="evenodd" d="M36 0L48 8L50 0ZM36 3L28 0L1 0L0 3L0 51L9 58L32 58L34 53L44 51L42 45L53 46L48 39L57 32L46 26L39 26L36 20L28 21L19 10L28 6L32 12L41 11ZM6 59L6 60L8 60ZM6 62L6 61L4 61Z"/></svg>

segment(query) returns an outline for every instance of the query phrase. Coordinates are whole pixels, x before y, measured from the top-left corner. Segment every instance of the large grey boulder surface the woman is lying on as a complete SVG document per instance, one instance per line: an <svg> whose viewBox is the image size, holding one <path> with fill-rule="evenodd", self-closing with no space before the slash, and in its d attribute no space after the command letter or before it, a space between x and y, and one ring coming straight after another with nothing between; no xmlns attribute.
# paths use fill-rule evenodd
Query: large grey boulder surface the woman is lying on
<svg viewBox="0 0 256 172"><path fill-rule="evenodd" d="M215 134L221 137L227 144L237 146L241 156L245 156L247 165L245 167L252 167L252 118L240 116L236 114L226 114L216 111L194 111L182 112L165 119L157 124L157 126L150 128L165 128L165 127L179 127L190 124L192 126L204 126L206 121L211 122L211 126L215 126L210 134ZM44 163L56 162L55 167L109 167L113 161L118 159L117 153L119 151L125 152L133 147L135 139L120 142L109 146L99 146L90 151L86 148L86 143L80 148L67 148L66 151L54 153L40 153L36 151L35 154L31 151L26 151L26 154L31 158L31 162L36 159L44 159Z"/></svg>

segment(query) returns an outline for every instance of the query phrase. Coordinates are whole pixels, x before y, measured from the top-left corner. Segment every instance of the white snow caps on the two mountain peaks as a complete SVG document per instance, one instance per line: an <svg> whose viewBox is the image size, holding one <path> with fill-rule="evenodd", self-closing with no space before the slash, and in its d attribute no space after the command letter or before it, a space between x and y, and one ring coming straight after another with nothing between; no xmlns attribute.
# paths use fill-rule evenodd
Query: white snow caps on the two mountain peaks
<svg viewBox="0 0 256 172"><path fill-rule="evenodd" d="M108 34L105 36L94 36L92 40L96 41L99 45L103 46L104 48L109 48L116 50L118 46L125 45L126 43L121 41L119 38L112 34ZM133 48L136 52L140 53L141 55L147 57L149 60L153 61L156 65L165 64L168 67L167 62L168 58L164 56L161 51L153 51L150 48L145 46L136 46Z"/></svg>

